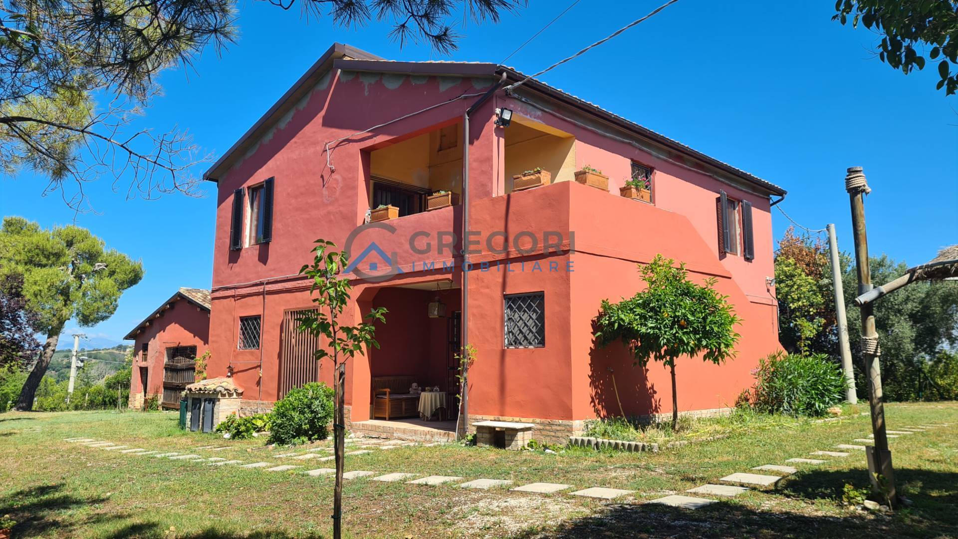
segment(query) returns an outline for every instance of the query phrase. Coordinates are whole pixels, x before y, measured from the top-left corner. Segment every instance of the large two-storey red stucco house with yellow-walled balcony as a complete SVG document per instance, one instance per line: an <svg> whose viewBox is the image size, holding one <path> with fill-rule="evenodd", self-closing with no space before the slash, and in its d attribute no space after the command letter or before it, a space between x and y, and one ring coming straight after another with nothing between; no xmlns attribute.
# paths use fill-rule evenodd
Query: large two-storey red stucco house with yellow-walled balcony
<svg viewBox="0 0 958 539"><path fill-rule="evenodd" d="M577 182L584 167L607 186ZM544 184L513 178L536 169ZM209 373L233 377L243 410L331 383L293 327L318 238L354 261L349 319L389 311L381 348L348 365L358 432L451 431L467 342L470 424L522 420L562 440L597 416L671 412L664 367L633 368L592 339L600 301L639 290L636 265L656 253L718 278L744 320L735 361L679 363L681 410L732 406L779 349L769 208L786 192L509 67L335 44L205 178L217 185ZM647 182L648 201L621 196L629 179ZM446 392L445 422L397 418L415 415L404 405L379 417L374 389L410 382Z"/></svg>

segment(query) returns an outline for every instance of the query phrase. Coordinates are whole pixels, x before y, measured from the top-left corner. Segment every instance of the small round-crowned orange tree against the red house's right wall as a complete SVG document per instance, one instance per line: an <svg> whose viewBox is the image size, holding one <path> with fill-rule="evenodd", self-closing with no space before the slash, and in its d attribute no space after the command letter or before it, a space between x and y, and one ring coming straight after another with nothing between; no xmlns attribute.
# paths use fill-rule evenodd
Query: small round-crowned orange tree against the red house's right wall
<svg viewBox="0 0 958 539"><path fill-rule="evenodd" d="M733 329L741 323L728 296L715 290L715 277L698 285L689 280L685 264L675 266L661 254L639 273L646 290L618 303L607 299L597 319L600 346L614 341L626 344L633 366L650 360L662 362L672 374L672 426L678 423L675 391L675 360L701 355L703 361L722 363L735 356L740 335Z"/></svg>

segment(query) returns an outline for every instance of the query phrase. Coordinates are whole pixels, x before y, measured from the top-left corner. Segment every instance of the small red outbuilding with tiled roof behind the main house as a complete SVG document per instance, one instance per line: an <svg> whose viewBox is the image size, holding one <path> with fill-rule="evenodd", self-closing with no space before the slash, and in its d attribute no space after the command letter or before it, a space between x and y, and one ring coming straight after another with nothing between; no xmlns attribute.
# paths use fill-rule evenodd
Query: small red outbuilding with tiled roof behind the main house
<svg viewBox="0 0 958 539"><path fill-rule="evenodd" d="M133 341L129 408L142 409L153 396L163 408L179 408L210 341L210 291L179 289L124 339Z"/></svg>

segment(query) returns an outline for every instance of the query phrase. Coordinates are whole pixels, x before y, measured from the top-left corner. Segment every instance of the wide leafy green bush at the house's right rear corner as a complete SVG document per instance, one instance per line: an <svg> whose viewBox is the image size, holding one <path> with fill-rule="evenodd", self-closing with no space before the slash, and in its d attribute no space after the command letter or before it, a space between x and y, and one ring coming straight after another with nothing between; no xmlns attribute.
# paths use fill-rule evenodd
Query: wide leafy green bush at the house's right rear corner
<svg viewBox="0 0 958 539"><path fill-rule="evenodd" d="M825 354L776 352L763 358L754 372L758 410L814 417L845 398L841 367Z"/></svg>

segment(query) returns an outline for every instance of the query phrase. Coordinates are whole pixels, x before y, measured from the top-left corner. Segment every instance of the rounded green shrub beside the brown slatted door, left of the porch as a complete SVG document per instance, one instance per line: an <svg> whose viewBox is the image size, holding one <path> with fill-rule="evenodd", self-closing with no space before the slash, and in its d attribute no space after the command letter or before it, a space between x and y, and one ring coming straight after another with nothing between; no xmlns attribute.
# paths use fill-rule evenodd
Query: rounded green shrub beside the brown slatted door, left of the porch
<svg viewBox="0 0 958 539"><path fill-rule="evenodd" d="M269 441L279 444L326 439L332 421L332 388L310 382L286 393L271 414Z"/></svg>

